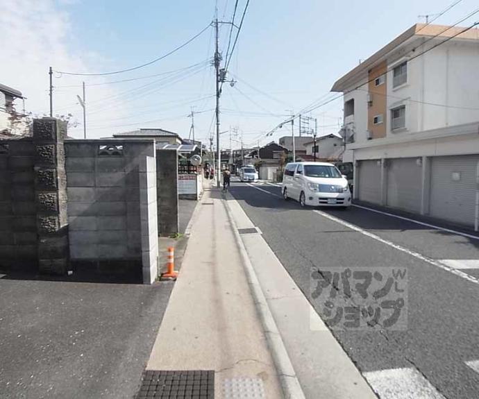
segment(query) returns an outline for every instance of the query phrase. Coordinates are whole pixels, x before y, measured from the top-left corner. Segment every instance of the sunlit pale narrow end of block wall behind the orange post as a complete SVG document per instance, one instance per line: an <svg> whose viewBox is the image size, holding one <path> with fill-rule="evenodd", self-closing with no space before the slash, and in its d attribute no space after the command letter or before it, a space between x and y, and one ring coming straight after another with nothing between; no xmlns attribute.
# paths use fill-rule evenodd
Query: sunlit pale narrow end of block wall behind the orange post
<svg viewBox="0 0 479 399"><path fill-rule="evenodd" d="M145 284L158 276L158 209L156 201L156 158L140 163L140 214L142 226L142 275Z"/></svg>

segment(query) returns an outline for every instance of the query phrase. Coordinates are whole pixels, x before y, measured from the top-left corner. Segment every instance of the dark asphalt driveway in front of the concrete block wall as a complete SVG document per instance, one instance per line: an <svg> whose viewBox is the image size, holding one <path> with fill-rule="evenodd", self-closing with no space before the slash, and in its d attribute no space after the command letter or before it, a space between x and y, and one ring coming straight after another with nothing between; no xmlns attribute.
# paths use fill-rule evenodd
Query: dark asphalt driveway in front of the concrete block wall
<svg viewBox="0 0 479 399"><path fill-rule="evenodd" d="M0 273L0 398L133 398L172 287Z"/></svg>

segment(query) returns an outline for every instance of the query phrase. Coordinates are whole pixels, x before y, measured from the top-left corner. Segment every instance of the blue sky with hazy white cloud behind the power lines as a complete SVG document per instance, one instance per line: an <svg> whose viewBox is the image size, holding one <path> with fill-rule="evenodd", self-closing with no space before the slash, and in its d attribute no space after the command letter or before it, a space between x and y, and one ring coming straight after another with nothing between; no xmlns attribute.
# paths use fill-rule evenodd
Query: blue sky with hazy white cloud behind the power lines
<svg viewBox="0 0 479 399"><path fill-rule="evenodd" d="M22 90L28 97L26 108L35 113L48 110L49 65L56 71L72 72L133 67L171 51L205 28L212 21L216 3L219 18L230 20L235 4L234 0L5 1L0 33L3 40L8 37L6 52L12 62L0 66L1 83ZM237 17L245 3L238 2ZM451 3L453 0L251 0L229 67L230 77L237 83L235 87L224 85L221 130L237 126L245 145L258 145L258 140L265 144L271 138L264 133L289 110L300 110L322 96L329 98L334 81L360 59L421 22L418 15L440 12ZM435 23L453 24L476 7L476 1L462 0ZM475 20L464 25L472 22ZM165 128L187 137L191 123L187 114L194 106L199 112L195 116L196 139L207 140L215 106L214 71L208 64L213 53L212 33L210 28L165 60L126 74L83 78L56 73L56 113L71 112L73 119L81 122L76 94L85 80L90 137L141 127ZM228 33L229 27L222 26L223 51ZM170 71L176 72L106 84ZM319 108L312 116L318 119L320 134L337 131L342 101ZM81 137L82 131L82 126L72 127L70 135ZM278 130L273 139L285 134ZM228 135L222 136L221 146L229 146ZM239 144L233 142L233 146Z"/></svg>

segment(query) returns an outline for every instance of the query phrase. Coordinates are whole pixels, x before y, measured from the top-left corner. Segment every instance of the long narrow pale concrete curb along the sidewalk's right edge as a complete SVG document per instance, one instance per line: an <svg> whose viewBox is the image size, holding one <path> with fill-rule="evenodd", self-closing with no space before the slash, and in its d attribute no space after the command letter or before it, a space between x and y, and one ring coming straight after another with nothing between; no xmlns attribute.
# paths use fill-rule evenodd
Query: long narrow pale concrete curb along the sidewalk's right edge
<svg viewBox="0 0 479 399"><path fill-rule="evenodd" d="M228 194L228 196L230 195L231 194ZM264 334L268 341L269 350L271 351L274 365L276 366L276 371L281 382L281 387L283 388L285 399L305 399L303 389L301 388L301 384L299 384L291 359L289 359L289 355L287 354L283 338L281 338L281 334L276 322L274 321L273 315L271 314L267 300L264 298L260 282L256 276L253 264L251 264L251 260L249 259L249 255L240 237L240 233L237 231L237 225L235 219L233 219L233 214L228 205L228 201L225 199L223 203L226 213L228 214L228 219L233 228L236 244L240 250L243 266L246 271L246 277L248 278L248 283L253 294L256 310L260 315Z"/></svg>

